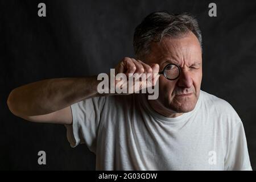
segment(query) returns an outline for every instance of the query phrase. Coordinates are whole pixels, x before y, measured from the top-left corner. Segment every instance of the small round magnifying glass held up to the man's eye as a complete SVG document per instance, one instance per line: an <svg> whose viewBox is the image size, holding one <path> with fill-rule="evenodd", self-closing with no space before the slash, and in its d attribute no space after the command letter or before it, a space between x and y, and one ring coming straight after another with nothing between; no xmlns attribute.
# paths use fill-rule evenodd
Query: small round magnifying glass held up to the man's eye
<svg viewBox="0 0 256 182"><path fill-rule="evenodd" d="M176 80L180 76L180 67L176 64L167 64L159 75L164 75L168 80Z"/></svg>

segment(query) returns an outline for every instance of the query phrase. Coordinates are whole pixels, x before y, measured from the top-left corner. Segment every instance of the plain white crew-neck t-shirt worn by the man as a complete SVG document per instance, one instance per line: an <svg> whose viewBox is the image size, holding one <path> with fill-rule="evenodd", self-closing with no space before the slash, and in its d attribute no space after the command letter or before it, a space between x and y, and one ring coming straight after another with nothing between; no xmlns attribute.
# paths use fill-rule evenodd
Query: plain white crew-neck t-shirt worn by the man
<svg viewBox="0 0 256 182"><path fill-rule="evenodd" d="M157 113L144 94L94 97L71 109L68 141L86 143L96 170L251 170L240 117L202 90L195 109L176 118Z"/></svg>

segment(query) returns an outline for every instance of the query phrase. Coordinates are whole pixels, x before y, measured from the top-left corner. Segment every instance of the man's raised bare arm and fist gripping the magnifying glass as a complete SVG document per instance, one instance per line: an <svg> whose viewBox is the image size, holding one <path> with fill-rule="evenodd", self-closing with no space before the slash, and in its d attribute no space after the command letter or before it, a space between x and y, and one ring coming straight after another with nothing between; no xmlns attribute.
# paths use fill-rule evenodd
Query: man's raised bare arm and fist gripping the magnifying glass
<svg viewBox="0 0 256 182"><path fill-rule="evenodd" d="M125 57L115 68L118 73L158 73L159 65L147 65ZM71 125L71 105L97 97L97 77L53 78L20 86L11 91L7 105L21 118L34 122ZM145 85L140 82L140 85ZM127 86L126 86L127 88ZM141 88L141 86L139 86Z"/></svg>

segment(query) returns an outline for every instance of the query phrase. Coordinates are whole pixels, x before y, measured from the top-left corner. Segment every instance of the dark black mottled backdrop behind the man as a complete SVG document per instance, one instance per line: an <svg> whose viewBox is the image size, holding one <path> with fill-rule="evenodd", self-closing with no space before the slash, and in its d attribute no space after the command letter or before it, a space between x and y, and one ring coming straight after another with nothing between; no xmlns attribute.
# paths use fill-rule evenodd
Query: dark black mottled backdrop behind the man
<svg viewBox="0 0 256 182"><path fill-rule="evenodd" d="M38 3L46 3L46 17ZM217 17L208 5L217 5ZM133 57L133 31L152 11L196 15L203 32L201 89L228 101L246 131L256 168L256 2L254 1L0 1L0 169L95 169L85 145L69 147L64 126L32 123L8 110L17 86L46 78L109 72ZM38 151L47 164L39 166Z"/></svg>

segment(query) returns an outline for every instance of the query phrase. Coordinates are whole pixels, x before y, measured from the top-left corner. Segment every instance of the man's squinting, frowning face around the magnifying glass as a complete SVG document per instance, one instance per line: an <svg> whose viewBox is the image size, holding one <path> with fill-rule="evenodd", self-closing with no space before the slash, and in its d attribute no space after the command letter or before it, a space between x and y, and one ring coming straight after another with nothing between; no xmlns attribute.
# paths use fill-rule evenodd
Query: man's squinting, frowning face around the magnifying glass
<svg viewBox="0 0 256 182"><path fill-rule="evenodd" d="M196 36L189 32L181 38L164 37L151 44L150 53L144 57L147 64L158 63L159 71L174 63L181 69L177 80L159 77L159 97L156 102L177 113L187 113L195 108L202 80L202 53ZM185 95L187 94L187 95Z"/></svg>

